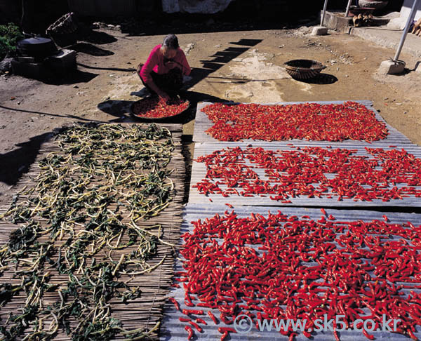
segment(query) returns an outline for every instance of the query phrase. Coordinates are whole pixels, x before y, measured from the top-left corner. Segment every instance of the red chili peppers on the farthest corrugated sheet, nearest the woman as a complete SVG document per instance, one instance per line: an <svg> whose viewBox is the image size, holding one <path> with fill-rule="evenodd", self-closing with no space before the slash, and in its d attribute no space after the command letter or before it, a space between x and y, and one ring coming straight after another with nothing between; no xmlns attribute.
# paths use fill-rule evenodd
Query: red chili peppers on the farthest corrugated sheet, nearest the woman
<svg viewBox="0 0 421 341"><path fill-rule="evenodd" d="M214 125L206 131L220 141L376 141L387 137L385 123L357 102L320 105L225 105L202 109Z"/></svg>

